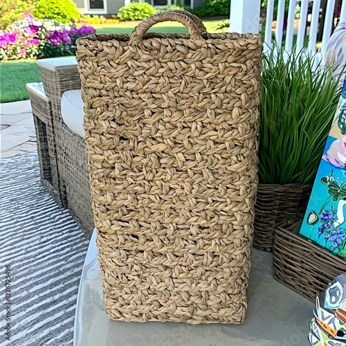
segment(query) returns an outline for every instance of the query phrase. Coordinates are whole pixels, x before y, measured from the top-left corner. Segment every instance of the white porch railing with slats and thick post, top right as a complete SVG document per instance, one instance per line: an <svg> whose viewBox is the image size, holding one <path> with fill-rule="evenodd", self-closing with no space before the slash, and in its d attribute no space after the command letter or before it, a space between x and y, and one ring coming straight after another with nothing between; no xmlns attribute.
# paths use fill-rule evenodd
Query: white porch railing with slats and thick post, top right
<svg viewBox="0 0 346 346"><path fill-rule="evenodd" d="M289 13L287 17L285 49L287 52L293 50L294 19L295 6L297 0L268 0L266 8L266 28L264 35L264 51L269 51L272 46L272 25L274 5L277 3L277 23L275 28L275 42L278 46L282 45L284 33L284 8L285 2L289 1ZM331 36L331 28L334 20L334 8L337 0L327 0L325 10L325 20L322 35L321 53L325 52L327 43ZM233 0L230 5L230 32L238 33L258 33L260 26L260 3L261 0ZM316 52L316 42L320 21L321 0L301 0L300 3L300 21L297 33L297 42L295 50L300 51L304 48L304 37L306 33L307 15L309 3L313 3L310 21L309 43L307 51ZM340 22L346 21L346 0L342 2L340 12Z"/></svg>

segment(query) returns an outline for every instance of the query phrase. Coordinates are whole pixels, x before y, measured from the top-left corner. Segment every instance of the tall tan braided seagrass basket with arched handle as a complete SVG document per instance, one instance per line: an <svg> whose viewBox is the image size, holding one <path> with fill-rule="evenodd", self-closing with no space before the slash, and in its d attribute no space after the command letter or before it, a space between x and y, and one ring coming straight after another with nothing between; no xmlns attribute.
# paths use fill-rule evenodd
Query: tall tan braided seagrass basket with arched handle
<svg viewBox="0 0 346 346"><path fill-rule="evenodd" d="M161 12L78 40L107 316L240 323L253 240L262 43ZM190 35L146 34L179 21Z"/></svg>

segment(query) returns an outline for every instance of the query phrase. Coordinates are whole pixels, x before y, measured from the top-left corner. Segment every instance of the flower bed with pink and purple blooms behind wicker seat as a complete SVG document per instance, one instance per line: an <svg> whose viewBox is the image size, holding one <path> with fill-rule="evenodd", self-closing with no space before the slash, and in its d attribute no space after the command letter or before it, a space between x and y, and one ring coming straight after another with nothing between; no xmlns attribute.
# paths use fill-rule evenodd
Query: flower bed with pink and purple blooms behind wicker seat
<svg viewBox="0 0 346 346"><path fill-rule="evenodd" d="M0 33L0 60L75 54L75 41L95 33L92 26L68 26L51 19L19 19Z"/></svg>

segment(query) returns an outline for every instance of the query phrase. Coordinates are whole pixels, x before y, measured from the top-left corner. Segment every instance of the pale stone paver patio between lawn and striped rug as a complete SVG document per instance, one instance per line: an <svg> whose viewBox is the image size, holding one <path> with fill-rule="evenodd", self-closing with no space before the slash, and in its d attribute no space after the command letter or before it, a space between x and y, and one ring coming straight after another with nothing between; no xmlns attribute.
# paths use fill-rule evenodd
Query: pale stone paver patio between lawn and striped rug
<svg viewBox="0 0 346 346"><path fill-rule="evenodd" d="M30 100L0 104L0 157L37 150Z"/></svg>

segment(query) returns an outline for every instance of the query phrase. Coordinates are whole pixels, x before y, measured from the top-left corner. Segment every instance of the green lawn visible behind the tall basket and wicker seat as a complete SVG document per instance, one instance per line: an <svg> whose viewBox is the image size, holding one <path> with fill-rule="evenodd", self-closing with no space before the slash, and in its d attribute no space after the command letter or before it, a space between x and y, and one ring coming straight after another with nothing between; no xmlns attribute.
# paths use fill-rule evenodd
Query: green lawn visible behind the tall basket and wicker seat
<svg viewBox="0 0 346 346"><path fill-rule="evenodd" d="M217 26L219 26L221 22L221 20L203 21L210 33L215 33ZM138 23L139 21L128 21L120 24L96 24L93 26L98 34L130 34ZM156 24L150 29L150 31L153 30L159 33L188 33L188 29L179 23L170 25L167 25L167 23ZM39 66L37 66L35 60L1 62L0 76L0 102L28 100L29 94L25 84L30 82L41 82Z"/></svg>

